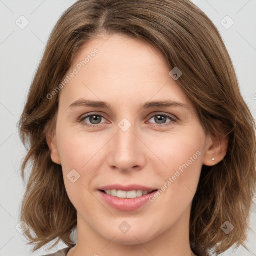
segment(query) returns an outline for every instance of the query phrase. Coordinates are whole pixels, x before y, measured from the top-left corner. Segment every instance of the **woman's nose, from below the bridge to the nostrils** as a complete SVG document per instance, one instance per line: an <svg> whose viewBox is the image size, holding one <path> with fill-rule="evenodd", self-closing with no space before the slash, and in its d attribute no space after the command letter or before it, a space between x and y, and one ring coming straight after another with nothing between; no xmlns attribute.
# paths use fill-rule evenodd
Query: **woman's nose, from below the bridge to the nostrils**
<svg viewBox="0 0 256 256"><path fill-rule="evenodd" d="M108 165L122 172L142 169L145 165L146 146L139 137L135 125L126 131L117 126L116 134L108 145Z"/></svg>

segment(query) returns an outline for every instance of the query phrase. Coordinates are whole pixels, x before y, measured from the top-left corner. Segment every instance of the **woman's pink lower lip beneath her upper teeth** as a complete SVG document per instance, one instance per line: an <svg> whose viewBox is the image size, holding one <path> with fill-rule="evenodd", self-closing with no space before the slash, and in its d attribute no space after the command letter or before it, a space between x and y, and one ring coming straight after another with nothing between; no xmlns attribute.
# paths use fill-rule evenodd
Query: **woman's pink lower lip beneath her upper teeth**
<svg viewBox="0 0 256 256"><path fill-rule="evenodd" d="M157 190L158 191L158 190ZM136 198L119 198L116 196L111 196L109 194L105 194L104 192L98 190L102 199L111 207L122 210L122 211L132 211L140 208L145 203L149 201L149 197L153 196L157 191L153 191L149 194L142 195Z"/></svg>

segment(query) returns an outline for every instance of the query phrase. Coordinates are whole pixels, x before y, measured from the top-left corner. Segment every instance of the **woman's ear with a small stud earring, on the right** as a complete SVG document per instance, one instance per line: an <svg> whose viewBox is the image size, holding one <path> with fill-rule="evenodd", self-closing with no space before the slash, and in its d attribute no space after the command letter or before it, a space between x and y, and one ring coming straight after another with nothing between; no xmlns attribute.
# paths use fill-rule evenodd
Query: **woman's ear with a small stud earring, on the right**
<svg viewBox="0 0 256 256"><path fill-rule="evenodd" d="M217 128L220 128L218 122ZM213 166L220 161L226 155L228 148L228 137L221 137L217 135L208 135L207 144L203 155L203 164L207 166ZM214 158L214 160L212 160Z"/></svg>

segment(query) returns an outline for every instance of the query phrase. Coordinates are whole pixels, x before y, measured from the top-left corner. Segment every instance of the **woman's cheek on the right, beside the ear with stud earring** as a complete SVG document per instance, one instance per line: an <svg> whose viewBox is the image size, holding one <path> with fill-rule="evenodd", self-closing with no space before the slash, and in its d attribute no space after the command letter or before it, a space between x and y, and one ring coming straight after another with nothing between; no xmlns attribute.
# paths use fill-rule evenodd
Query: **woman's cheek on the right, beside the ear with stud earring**
<svg viewBox="0 0 256 256"><path fill-rule="evenodd" d="M195 192L203 162L201 133L171 134L168 139L163 139L158 145L154 150L165 165L164 167L162 164L163 168L161 168L163 185L169 180L169 187L180 192L180 196L182 192L189 190Z"/></svg>

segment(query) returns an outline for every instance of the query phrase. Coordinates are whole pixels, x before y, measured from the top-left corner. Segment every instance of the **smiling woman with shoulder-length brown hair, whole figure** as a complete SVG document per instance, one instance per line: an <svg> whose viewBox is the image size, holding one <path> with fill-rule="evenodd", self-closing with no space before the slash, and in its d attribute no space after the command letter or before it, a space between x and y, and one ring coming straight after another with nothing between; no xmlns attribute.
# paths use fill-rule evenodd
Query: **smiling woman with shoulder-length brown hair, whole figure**
<svg viewBox="0 0 256 256"><path fill-rule="evenodd" d="M20 136L21 220L56 255L244 245L255 134L226 47L188 0L79 0L55 25ZM77 226L77 242L70 234Z"/></svg>

